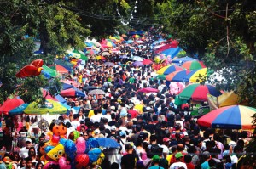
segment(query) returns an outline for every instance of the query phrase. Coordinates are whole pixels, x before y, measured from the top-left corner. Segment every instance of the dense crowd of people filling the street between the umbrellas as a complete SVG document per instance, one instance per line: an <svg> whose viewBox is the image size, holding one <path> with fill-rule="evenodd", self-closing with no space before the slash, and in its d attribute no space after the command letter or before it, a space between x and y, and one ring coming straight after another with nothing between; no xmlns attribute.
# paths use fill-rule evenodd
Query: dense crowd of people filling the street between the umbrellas
<svg viewBox="0 0 256 169"><path fill-rule="evenodd" d="M143 48L138 44L120 44L122 54L139 55L153 59L150 44L158 37L148 34ZM150 65L136 67L132 60L120 59L120 54L111 54L107 60L88 60L83 69L74 68L67 80L79 83L84 98L68 98L72 107L58 120L67 127L67 138L74 140L73 131L85 141L90 138L112 138L119 149L104 151L102 164L92 163L87 168L102 169L235 169L250 138L246 131L218 130L198 126L190 115L192 105L175 105L175 95L165 80L158 80ZM104 63L113 62L114 66ZM102 89L105 95L90 95L90 88ZM137 92L144 87L156 88L158 93ZM137 106L139 105L139 106ZM9 119L6 118L8 121ZM32 118L26 122L37 122ZM7 122L8 123L8 122ZM21 132L12 138L5 137L2 145L12 142L12 149L0 155L2 168L43 168L39 144L48 138L47 129L40 137L27 138ZM9 140L9 141L8 141Z"/></svg>

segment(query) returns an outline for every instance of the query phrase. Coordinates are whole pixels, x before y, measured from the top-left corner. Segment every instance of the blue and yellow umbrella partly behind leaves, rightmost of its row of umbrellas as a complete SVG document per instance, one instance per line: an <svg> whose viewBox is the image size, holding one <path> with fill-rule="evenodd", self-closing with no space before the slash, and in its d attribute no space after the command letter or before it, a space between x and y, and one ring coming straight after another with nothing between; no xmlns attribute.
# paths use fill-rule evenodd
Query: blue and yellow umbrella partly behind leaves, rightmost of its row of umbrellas
<svg viewBox="0 0 256 169"><path fill-rule="evenodd" d="M199 70L190 71L187 76L184 76L186 82L203 82L206 81L207 76L209 76L213 71L207 68L202 68Z"/></svg>

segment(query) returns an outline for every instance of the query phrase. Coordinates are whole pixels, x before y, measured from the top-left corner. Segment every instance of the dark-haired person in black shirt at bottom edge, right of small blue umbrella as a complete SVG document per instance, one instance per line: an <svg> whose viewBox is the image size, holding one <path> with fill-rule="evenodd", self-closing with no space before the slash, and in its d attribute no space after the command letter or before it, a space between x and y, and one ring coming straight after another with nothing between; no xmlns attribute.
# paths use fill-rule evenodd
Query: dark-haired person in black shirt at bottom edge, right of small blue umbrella
<svg viewBox="0 0 256 169"><path fill-rule="evenodd" d="M135 163L136 155L133 154L132 145L125 144L125 150L126 150L127 154L121 158L122 169L134 169L135 164L136 164Z"/></svg>

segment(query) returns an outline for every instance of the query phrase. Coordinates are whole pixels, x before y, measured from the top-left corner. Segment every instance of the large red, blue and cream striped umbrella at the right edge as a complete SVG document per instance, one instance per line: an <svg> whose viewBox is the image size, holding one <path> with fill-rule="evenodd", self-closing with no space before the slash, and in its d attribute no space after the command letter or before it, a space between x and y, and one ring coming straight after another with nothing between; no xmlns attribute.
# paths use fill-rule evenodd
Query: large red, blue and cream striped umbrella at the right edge
<svg viewBox="0 0 256 169"><path fill-rule="evenodd" d="M253 129L253 115L256 109L243 105L230 105L203 115L197 123L204 127Z"/></svg>

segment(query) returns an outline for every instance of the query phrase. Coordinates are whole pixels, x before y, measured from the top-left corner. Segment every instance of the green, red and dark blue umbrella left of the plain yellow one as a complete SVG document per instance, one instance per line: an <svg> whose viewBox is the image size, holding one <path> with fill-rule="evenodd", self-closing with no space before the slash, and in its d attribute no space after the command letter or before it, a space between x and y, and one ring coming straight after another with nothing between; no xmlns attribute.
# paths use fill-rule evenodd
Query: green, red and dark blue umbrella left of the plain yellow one
<svg viewBox="0 0 256 169"><path fill-rule="evenodd" d="M207 93L218 97L221 93L212 85L190 84L178 95L180 99L192 99L194 101L207 101Z"/></svg>

